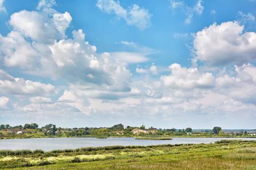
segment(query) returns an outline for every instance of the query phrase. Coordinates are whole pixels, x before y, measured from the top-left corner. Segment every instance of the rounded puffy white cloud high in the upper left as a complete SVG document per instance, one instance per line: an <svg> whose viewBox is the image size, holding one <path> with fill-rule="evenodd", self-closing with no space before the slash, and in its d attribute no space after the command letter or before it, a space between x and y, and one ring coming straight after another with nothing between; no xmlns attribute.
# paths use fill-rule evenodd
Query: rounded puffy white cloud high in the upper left
<svg viewBox="0 0 256 170"><path fill-rule="evenodd" d="M9 21L15 31L36 42L52 43L64 36L72 18L68 12L55 13L53 19L48 15L36 11L20 11L11 15ZM24 24L27 23L27 24Z"/></svg>

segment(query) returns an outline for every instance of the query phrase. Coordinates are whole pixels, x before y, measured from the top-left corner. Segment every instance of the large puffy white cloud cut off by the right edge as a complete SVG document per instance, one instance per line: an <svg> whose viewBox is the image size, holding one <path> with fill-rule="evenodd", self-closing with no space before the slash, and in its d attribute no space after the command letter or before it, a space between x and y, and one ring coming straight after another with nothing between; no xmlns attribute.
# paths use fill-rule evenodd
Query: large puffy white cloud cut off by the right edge
<svg viewBox="0 0 256 170"><path fill-rule="evenodd" d="M255 61L256 33L243 33L238 22L216 23L197 32L193 45L196 59L209 65L242 65Z"/></svg>

